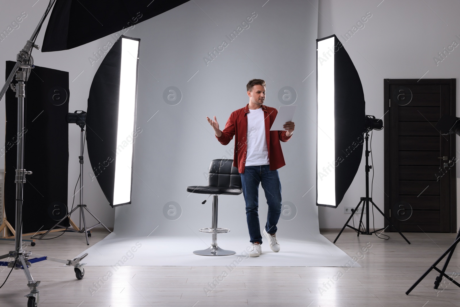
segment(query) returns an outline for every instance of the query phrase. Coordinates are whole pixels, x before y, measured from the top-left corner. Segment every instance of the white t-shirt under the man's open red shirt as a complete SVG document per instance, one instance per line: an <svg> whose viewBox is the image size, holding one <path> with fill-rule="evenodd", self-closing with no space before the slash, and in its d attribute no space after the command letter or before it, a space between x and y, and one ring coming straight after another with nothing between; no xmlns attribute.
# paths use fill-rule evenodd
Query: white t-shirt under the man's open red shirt
<svg viewBox="0 0 460 307"><path fill-rule="evenodd" d="M246 166L267 165L268 159L267 138L265 137L264 110L249 109L247 116L247 154Z"/></svg>

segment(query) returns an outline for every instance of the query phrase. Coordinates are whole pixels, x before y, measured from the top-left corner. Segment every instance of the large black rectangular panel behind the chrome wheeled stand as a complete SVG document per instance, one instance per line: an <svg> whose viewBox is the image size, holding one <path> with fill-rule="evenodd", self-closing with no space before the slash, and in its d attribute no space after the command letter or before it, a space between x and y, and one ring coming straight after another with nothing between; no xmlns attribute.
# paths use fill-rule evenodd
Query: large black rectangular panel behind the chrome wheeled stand
<svg viewBox="0 0 460 307"><path fill-rule="evenodd" d="M6 77L16 62L6 61ZM69 73L35 66L26 82L24 133L17 135L17 98L6 91L5 212L15 227L17 140L24 140L23 232L48 230L67 214ZM75 178L76 179L76 178ZM61 222L69 226L69 220Z"/></svg>

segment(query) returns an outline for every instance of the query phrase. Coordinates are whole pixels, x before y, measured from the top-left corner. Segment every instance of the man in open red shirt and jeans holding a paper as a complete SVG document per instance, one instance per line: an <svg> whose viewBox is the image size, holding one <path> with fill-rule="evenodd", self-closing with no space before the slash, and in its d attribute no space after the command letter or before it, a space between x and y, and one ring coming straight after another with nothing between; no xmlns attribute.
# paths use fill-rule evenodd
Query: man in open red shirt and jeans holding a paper
<svg viewBox="0 0 460 307"><path fill-rule="evenodd" d="M287 142L294 131L294 123L286 122L285 130L270 131L278 111L265 106L265 81L253 79L246 85L249 103L230 114L223 131L219 130L216 116L214 120L206 117L214 129L215 136L223 145L230 143L235 135L233 166L241 176L243 196L246 202L246 220L250 242L251 257L262 253L262 236L259 225L259 183L265 191L268 214L264 236L274 252L280 250L276 239L276 224L281 214L281 183L278 168L286 165L281 150L282 142Z"/></svg>

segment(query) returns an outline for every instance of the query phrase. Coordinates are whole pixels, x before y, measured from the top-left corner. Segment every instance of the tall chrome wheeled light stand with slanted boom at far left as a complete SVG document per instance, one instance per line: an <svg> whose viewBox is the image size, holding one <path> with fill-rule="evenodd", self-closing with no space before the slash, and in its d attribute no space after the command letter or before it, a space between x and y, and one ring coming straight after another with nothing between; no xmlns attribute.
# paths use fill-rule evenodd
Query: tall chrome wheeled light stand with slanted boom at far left
<svg viewBox="0 0 460 307"><path fill-rule="evenodd" d="M3 98L6 90L8 89L10 83L13 81L13 78L16 76L16 86L11 84L11 89L16 92L17 97L17 135L21 135L24 127L24 98L25 95L25 81L27 81L30 70L34 68L34 59L30 55L32 52L32 47L39 49L40 47L35 45L34 41L38 35L41 25L45 20L47 14L51 11L51 8L56 0L50 0L48 7L46 8L46 12L41 17L38 26L35 28L35 31L27 41L26 45L24 46L23 50L21 50L17 54L17 62L11 71L10 75L6 79L5 85L2 87L0 92L0 99ZM20 69L20 70L19 70ZM33 254L32 252L27 252L26 250L22 249L22 221L23 221L23 185L26 182L25 175L32 174L32 172L28 172L23 169L23 162L24 162L24 139L18 138L17 140L17 164L16 164L16 175L15 175L15 184L16 184L16 225L15 225L15 247L13 251L10 251L6 255L0 255L1 259L6 259L13 257L13 261L0 261L0 266L8 266L11 268L15 268L17 270L22 269L26 278L28 280L27 286L30 289L30 293L25 295L28 297L27 306L28 307L36 307L39 303L39 294L40 291L38 290L38 285L40 284L40 280L35 280L29 271L29 266L34 262L44 261L44 260L51 260L60 263L64 263L67 266L74 266L75 275L78 279L83 278L85 274L85 270L83 266L84 263L80 263L80 261L85 258L88 254L74 258L73 260L62 260L52 257L47 257L43 255ZM30 258L35 257L35 258Z"/></svg>

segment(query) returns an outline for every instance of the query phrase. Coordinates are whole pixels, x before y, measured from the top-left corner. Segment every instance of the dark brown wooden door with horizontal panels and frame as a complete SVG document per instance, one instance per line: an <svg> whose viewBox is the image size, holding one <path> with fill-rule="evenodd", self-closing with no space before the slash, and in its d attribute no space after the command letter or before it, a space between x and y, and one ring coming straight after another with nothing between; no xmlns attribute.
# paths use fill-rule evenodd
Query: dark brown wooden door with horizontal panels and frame
<svg viewBox="0 0 460 307"><path fill-rule="evenodd" d="M384 90L385 214L403 232L455 233L457 136L435 128L455 116L455 79L386 79Z"/></svg>

